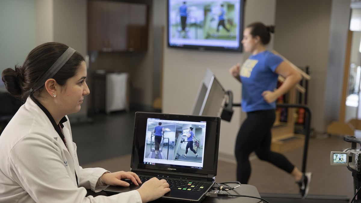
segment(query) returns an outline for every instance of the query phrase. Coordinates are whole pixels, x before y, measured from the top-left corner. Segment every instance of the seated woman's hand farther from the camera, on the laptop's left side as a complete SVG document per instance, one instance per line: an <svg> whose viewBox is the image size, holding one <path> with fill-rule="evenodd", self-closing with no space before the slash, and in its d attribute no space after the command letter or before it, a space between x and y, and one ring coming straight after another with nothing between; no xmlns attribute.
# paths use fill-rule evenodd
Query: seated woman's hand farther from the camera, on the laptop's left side
<svg viewBox="0 0 361 203"><path fill-rule="evenodd" d="M142 184L140 178L134 172L118 171L114 173L104 173L103 176L101 176L101 180L103 180L106 185L120 185L128 187L129 183L122 181L122 178L131 180L134 185L137 186Z"/></svg>

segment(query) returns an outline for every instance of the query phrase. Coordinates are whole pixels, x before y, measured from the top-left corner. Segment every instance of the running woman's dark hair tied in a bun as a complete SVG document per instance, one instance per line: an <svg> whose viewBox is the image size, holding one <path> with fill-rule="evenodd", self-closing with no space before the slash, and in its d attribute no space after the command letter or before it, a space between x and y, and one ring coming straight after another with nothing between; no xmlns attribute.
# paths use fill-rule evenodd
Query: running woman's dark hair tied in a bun
<svg viewBox="0 0 361 203"><path fill-rule="evenodd" d="M261 22L254 22L247 26L247 28L251 28L251 35L252 37L259 36L261 39L262 44L266 45L271 40L271 34L274 33L274 26L265 26Z"/></svg>

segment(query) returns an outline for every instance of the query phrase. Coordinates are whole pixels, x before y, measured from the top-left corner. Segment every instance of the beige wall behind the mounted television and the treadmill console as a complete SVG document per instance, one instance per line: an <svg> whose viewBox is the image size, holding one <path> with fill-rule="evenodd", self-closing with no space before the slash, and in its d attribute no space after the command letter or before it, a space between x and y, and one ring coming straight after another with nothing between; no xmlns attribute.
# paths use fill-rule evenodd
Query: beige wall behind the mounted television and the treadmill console
<svg viewBox="0 0 361 203"><path fill-rule="evenodd" d="M160 4L160 2L158 2ZM166 16L166 1L159 5L158 15ZM245 5L245 25L262 21L265 24L274 24L275 0L247 1ZM166 23L164 21L164 23ZM166 40L166 39L165 39ZM221 82L224 88L232 90L234 102L240 102L241 85L231 77L228 70L237 62L242 63L248 55L245 53L230 53L218 51L195 51L188 49L172 49L164 47L163 70L163 112L190 114L196 98L198 88L209 68ZM272 43L270 44L272 48ZM187 95L188 99L184 98ZM234 143L241 121L239 108L235 109L232 121L222 121L219 156L228 155L234 159Z"/></svg>

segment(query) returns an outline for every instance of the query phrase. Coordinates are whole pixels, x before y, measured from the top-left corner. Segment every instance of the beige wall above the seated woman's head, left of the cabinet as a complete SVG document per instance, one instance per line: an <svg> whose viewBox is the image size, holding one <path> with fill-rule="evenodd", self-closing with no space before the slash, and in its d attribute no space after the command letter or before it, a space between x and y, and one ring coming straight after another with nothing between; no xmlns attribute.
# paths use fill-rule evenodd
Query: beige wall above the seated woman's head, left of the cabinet
<svg viewBox="0 0 361 203"><path fill-rule="evenodd" d="M87 1L36 0L36 45L64 43L87 55Z"/></svg>

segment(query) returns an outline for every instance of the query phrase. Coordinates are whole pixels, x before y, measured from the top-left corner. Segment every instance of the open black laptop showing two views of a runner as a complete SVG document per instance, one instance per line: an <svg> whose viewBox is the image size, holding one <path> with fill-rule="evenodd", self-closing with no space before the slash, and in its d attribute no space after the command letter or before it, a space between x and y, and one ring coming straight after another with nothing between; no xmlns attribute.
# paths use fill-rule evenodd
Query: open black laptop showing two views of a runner
<svg viewBox="0 0 361 203"><path fill-rule="evenodd" d="M161 199L201 202L217 175L220 125L220 117L136 112L131 171L142 182L152 177L166 179L171 190ZM193 143L187 138L190 127ZM159 128L164 129L160 136L155 130ZM141 186L129 182L129 187L109 186L104 191L116 194Z"/></svg>

